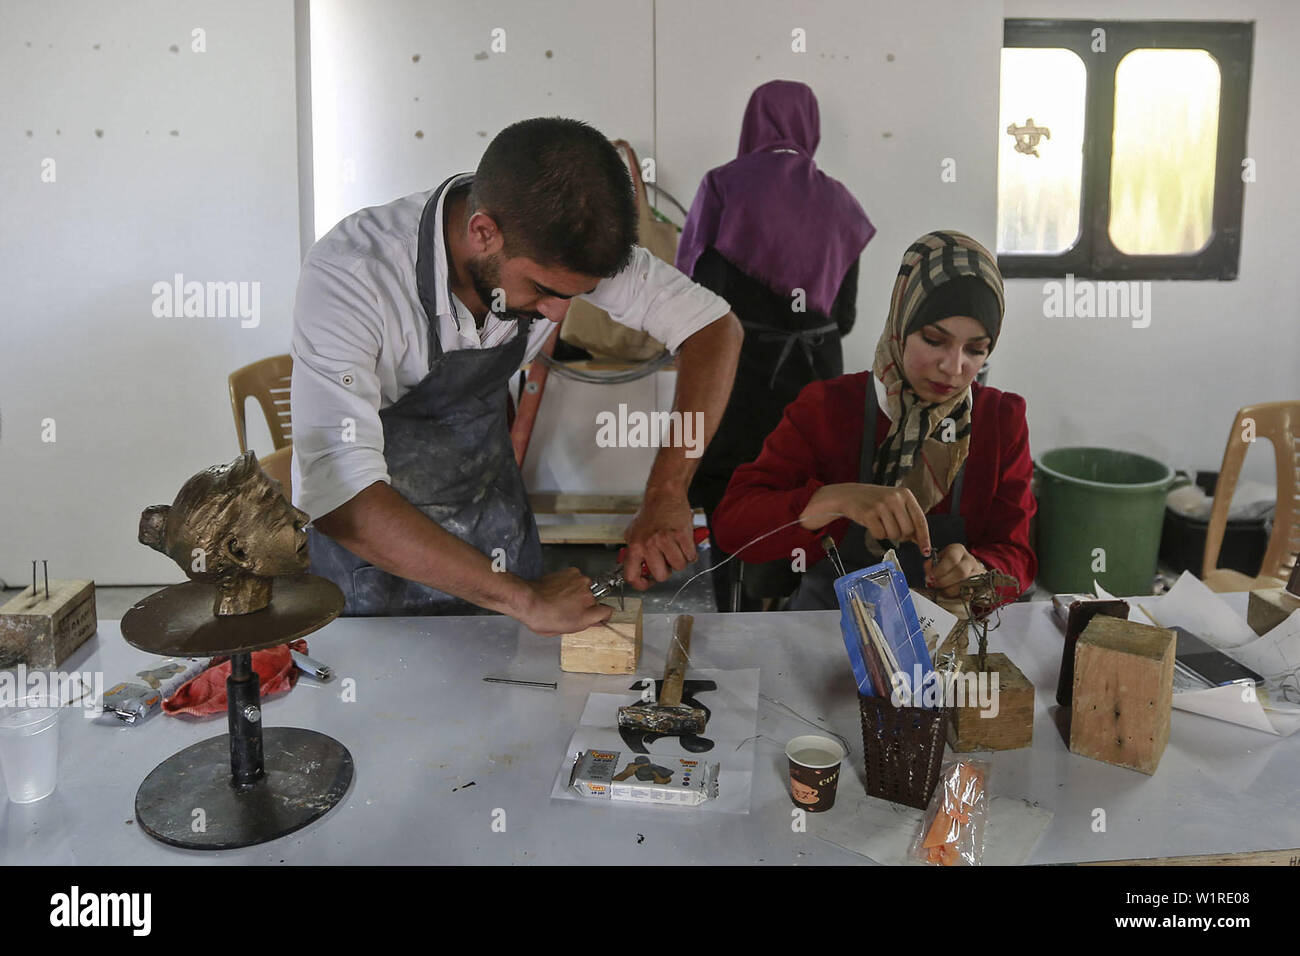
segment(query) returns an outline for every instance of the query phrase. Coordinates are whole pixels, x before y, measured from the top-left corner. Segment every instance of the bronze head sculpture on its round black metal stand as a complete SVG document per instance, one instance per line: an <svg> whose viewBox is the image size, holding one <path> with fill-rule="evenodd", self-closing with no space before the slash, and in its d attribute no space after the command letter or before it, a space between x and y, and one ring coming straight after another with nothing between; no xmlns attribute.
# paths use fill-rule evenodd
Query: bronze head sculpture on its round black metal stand
<svg viewBox="0 0 1300 956"><path fill-rule="evenodd" d="M338 804L352 754L300 727L263 730L252 653L317 631L343 593L306 574L307 514L246 451L182 485L170 505L140 512L139 541L190 579L122 617L122 636L166 657L230 657L230 732L168 757L135 793L150 836L186 849L234 849L291 834Z"/></svg>

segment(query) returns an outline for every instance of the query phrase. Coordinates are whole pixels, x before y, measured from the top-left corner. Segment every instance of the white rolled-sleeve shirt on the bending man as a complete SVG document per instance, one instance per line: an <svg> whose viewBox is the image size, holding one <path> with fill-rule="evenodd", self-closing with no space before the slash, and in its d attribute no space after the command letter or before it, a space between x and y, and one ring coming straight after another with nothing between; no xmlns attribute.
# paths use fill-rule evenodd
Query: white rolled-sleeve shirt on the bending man
<svg viewBox="0 0 1300 956"><path fill-rule="evenodd" d="M477 329L447 286L443 200L434 229L434 299L443 351L493 349L519 324L491 313ZM294 505L329 514L376 481L389 481L380 410L429 373L429 320L416 289L420 215L434 190L352 213L312 246L294 303ZM676 352L729 306L641 246L616 276L580 298L628 328L649 332ZM533 321L524 362L541 351L554 324Z"/></svg>

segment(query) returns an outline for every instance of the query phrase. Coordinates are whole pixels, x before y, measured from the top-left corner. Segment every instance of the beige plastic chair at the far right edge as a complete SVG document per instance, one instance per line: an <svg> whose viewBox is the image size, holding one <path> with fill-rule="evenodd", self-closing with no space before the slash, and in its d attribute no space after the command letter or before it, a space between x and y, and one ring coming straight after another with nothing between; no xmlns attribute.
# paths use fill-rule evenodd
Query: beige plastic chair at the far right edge
<svg viewBox="0 0 1300 956"><path fill-rule="evenodd" d="M1218 567L1223 532L1227 528L1227 509L1232 503L1232 489L1242 475L1248 441L1243 441L1247 425L1253 421L1256 438L1273 442L1278 463L1278 505L1273 516L1273 535L1260 564L1260 575L1251 578L1238 571ZM1205 533L1205 557L1201 562L1201 580L1210 591L1253 591L1277 588L1286 584L1300 551L1300 402L1268 402L1248 405L1236 414L1232 431L1223 450L1218 484L1214 486L1214 507Z"/></svg>

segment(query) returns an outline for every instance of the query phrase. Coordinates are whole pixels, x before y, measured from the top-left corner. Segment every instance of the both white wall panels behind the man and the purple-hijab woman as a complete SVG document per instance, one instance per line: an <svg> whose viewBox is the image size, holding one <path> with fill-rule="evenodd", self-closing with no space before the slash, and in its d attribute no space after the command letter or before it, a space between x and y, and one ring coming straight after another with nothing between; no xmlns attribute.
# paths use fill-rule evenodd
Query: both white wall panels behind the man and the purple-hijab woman
<svg viewBox="0 0 1300 956"><path fill-rule="evenodd" d="M753 87L774 77L803 79L822 103L818 160L863 198L880 230L864 260L862 325L870 332L850 339L854 367L874 349L911 239L937 225L993 233L998 7L962 5L936 35L935 23L892 4L854 0L746 3L742 16L733 3L685 0L437 9L400 1L386 4L382 18L369 7L317 0L316 232L355 208L473 168L497 130L537 114L575 116L630 140L689 204L699 177L734 156ZM504 53L491 52L494 27L506 30ZM806 33L805 53L790 49L794 27ZM971 75L987 82L971 90ZM963 96L948 96L952 88ZM924 122L910 98L932 104ZM944 185L939 164L948 156L958 161L958 181ZM620 402L668 407L672 382L662 375L594 386L551 376L524 464L529 486L641 490L653 450L597 449L595 414Z"/></svg>

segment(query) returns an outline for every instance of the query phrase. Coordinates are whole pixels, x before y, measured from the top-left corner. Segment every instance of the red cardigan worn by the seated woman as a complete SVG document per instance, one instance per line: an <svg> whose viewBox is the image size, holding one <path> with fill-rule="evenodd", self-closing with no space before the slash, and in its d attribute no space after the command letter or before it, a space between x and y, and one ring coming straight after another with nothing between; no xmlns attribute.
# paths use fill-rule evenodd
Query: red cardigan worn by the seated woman
<svg viewBox="0 0 1300 956"><path fill-rule="evenodd" d="M867 372L858 372L811 382L786 406L758 459L734 471L714 511L714 535L724 551L734 554L759 535L794 522L822 485L858 480L867 377ZM971 385L971 397L961 510L966 546L985 567L1015 575L1023 593L1039 568L1030 548L1030 518L1037 503L1030 490L1034 460L1024 399L982 385ZM878 411L876 447L888 433L889 419ZM949 492L933 514L949 514L950 499ZM740 557L750 562L788 559L802 548L812 566L826 557L818 544L822 537L829 532L838 542L848 529L848 518L837 518L818 532L792 524L749 545ZM1011 597L1009 592L1004 596Z"/></svg>

